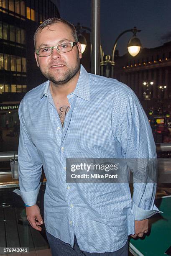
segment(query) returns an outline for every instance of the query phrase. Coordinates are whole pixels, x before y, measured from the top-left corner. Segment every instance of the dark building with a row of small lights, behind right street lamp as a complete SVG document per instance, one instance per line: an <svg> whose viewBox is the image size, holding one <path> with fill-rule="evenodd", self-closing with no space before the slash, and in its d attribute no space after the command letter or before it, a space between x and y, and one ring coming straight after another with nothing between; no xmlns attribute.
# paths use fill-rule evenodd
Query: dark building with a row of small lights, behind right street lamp
<svg viewBox="0 0 171 256"><path fill-rule="evenodd" d="M145 108L170 108L171 42L115 58L114 77L130 86Z"/></svg>

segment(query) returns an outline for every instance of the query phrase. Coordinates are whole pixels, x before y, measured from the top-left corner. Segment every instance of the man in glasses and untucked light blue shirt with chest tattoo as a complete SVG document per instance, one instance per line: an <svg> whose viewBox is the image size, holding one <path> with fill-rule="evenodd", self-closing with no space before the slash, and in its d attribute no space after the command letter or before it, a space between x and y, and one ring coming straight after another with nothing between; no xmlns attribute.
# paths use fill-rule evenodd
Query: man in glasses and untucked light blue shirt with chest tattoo
<svg viewBox="0 0 171 256"><path fill-rule="evenodd" d="M88 74L73 25L50 18L35 36L37 66L48 79L20 103L20 190L29 223L41 230L36 205L46 175L44 223L52 254L128 255L128 236L148 232L156 186L66 183L67 158L156 158L148 119L134 92ZM36 110L36 111L35 111Z"/></svg>

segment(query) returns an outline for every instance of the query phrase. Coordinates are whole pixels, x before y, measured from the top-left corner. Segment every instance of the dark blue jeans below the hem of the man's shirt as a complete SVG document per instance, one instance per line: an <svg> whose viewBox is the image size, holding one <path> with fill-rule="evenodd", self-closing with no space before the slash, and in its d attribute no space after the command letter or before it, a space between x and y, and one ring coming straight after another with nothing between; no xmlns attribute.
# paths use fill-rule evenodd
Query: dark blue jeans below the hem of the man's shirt
<svg viewBox="0 0 171 256"><path fill-rule="evenodd" d="M48 243L51 248L52 256L128 256L128 240L122 248L114 252L106 253L89 253L81 251L77 243L76 236L74 236L74 249L69 243L64 243L59 238L56 238L46 231Z"/></svg>

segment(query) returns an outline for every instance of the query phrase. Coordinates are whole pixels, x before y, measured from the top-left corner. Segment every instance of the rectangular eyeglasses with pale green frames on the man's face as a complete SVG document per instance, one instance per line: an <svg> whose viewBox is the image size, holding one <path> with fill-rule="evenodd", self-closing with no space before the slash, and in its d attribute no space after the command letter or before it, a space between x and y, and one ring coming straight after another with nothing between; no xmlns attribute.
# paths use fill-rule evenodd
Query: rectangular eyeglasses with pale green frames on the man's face
<svg viewBox="0 0 171 256"><path fill-rule="evenodd" d="M35 52L40 57L46 57L52 54L52 51L54 48L56 48L56 50L59 51L59 53L64 53L64 52L71 51L75 45L77 45L77 42L69 42L69 43L59 44L51 47L43 47L36 50Z"/></svg>

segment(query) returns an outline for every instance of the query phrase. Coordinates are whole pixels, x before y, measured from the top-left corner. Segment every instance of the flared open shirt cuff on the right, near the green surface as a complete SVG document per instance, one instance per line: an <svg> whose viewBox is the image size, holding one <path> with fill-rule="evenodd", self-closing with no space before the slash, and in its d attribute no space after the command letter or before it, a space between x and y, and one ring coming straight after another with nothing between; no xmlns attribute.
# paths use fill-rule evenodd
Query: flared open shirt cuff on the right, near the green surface
<svg viewBox="0 0 171 256"><path fill-rule="evenodd" d="M137 205L135 205L135 203L133 202L133 213L134 213L135 220L145 220L150 218L155 213L163 213L163 212L158 210L156 205L153 205L153 210L143 210L139 208Z"/></svg>

